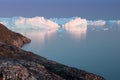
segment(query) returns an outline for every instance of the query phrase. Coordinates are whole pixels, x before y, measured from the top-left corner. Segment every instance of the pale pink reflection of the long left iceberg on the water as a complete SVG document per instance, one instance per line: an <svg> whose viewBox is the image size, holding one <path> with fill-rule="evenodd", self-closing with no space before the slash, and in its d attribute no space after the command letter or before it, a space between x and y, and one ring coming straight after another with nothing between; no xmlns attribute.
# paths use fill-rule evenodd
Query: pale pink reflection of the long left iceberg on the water
<svg viewBox="0 0 120 80"><path fill-rule="evenodd" d="M32 40L30 45L36 44L35 47L39 45L39 48L43 49L45 45L45 41L50 40L55 34L56 34L56 30L50 30L50 31L43 30L43 31L27 32L24 35Z"/></svg>

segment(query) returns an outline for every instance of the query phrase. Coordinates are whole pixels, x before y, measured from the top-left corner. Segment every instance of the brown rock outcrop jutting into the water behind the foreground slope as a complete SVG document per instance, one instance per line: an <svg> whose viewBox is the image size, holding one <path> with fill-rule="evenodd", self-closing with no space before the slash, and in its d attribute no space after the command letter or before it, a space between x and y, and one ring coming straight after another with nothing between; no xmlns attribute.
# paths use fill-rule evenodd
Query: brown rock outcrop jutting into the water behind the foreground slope
<svg viewBox="0 0 120 80"><path fill-rule="evenodd" d="M0 24L0 41L16 47L22 47L24 44L29 43L30 39L9 30L4 25Z"/></svg>

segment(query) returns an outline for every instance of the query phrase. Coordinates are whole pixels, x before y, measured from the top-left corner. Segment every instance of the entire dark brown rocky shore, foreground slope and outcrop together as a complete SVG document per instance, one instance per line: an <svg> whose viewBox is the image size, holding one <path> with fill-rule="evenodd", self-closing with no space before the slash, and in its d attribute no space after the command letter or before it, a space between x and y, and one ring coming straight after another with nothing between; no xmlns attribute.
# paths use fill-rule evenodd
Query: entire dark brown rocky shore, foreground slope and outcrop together
<svg viewBox="0 0 120 80"><path fill-rule="evenodd" d="M30 40L11 32L0 24L0 80L105 80L22 50L20 47Z"/></svg>

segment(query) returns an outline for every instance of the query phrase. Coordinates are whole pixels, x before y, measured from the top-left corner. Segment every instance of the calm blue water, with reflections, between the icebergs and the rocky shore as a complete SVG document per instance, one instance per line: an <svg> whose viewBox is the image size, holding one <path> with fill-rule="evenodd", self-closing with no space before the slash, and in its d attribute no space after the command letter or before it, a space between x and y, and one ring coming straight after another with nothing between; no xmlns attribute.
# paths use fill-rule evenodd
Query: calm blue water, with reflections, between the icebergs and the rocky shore
<svg viewBox="0 0 120 80"><path fill-rule="evenodd" d="M48 59L102 75L120 76L120 26L93 27L87 31L32 31L24 33L32 42L23 49Z"/></svg>

